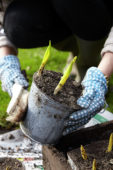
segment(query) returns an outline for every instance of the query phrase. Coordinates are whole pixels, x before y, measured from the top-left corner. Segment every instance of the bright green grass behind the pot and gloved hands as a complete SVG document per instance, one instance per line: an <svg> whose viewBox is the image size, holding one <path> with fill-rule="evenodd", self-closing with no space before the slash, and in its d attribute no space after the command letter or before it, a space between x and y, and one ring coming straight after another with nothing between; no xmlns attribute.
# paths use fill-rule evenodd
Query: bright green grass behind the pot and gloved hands
<svg viewBox="0 0 113 170"><path fill-rule="evenodd" d="M27 77L29 79L29 87L31 86L32 76L36 72L41 64L42 58L44 56L46 47L35 48L35 49L19 49L19 59L21 63L21 69L25 69ZM54 48L51 49L51 57L46 65L47 70L54 70L62 72L66 64L68 57L68 52L58 51ZM113 112L113 76L110 79L109 92L106 97L107 103L109 105L108 110ZM6 109L10 97L6 92L3 92L0 85L0 126L5 128L11 128L13 124L7 122L6 119Z"/></svg>

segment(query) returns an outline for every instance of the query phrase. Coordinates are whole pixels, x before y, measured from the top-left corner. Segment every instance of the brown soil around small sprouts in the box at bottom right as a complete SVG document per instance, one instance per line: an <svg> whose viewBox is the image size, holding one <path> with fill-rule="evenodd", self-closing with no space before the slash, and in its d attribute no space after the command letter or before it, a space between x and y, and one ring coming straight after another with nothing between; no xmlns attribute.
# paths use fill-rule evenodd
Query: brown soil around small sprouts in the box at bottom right
<svg viewBox="0 0 113 170"><path fill-rule="evenodd" d="M91 170L93 159L96 159L96 170L113 170L113 151L106 153L108 140L92 142L84 146L87 160L81 156L80 148L69 152L70 158L79 170Z"/></svg>

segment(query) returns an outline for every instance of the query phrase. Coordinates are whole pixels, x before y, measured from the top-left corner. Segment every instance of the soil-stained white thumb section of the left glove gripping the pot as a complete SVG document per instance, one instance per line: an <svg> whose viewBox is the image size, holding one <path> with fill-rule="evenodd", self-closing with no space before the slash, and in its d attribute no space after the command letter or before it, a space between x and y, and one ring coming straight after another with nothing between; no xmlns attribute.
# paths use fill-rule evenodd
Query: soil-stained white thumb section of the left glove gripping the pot
<svg viewBox="0 0 113 170"><path fill-rule="evenodd" d="M26 112L28 105L28 94L21 85L14 84L12 87L12 98L7 108L9 116L6 118L10 122L20 122Z"/></svg>

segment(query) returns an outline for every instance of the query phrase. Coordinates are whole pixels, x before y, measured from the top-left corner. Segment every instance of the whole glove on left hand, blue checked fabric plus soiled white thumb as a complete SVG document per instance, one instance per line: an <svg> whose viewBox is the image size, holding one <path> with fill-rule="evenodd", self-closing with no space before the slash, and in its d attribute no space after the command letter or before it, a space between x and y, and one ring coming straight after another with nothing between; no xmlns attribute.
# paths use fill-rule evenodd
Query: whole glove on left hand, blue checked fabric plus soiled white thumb
<svg viewBox="0 0 113 170"><path fill-rule="evenodd" d="M0 58L0 80L2 89L12 97L7 110L10 114L7 120L19 122L27 108L28 91L24 88L28 87L28 82L21 73L20 63L16 56L8 55ZM18 84L16 88L15 83Z"/></svg>

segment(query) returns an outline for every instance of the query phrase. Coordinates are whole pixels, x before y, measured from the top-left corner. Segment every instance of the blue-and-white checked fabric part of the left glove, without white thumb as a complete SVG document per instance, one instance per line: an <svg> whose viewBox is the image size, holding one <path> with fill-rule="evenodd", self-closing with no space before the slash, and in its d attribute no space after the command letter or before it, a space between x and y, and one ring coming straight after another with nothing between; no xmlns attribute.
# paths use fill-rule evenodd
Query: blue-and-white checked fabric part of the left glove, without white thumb
<svg viewBox="0 0 113 170"><path fill-rule="evenodd" d="M28 82L20 70L20 63L16 56L7 55L0 58L0 80L2 89L12 96L12 87L15 83L27 88Z"/></svg>

